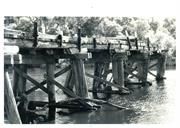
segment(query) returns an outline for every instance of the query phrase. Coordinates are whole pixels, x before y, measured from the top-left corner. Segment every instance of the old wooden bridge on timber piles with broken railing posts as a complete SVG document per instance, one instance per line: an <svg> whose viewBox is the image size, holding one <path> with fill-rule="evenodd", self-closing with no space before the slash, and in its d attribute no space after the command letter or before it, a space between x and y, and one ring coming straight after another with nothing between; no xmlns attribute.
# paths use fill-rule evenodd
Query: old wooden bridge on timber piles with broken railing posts
<svg viewBox="0 0 180 128"><path fill-rule="evenodd" d="M137 87L151 85L147 79L148 74L154 76L156 80L164 79L166 53L150 47L149 40L144 45L139 45L136 37L130 38L128 35L125 38L107 39L116 40L117 43L112 44L109 41L109 43L100 44L98 39L92 38L92 42L83 44L80 29L78 29L77 41L63 42L62 35L54 39L38 39L37 23L34 24L33 38L12 37L6 34L5 47L16 45L13 48L17 50L15 53L9 51L4 54L4 108L8 121L29 123L27 114L34 112L36 107L47 105L49 121L55 119L56 108L75 110L98 108L87 101L108 103L121 109L123 107L106 101L89 99L88 91L92 92L95 99L104 100L109 98L110 94L131 93L132 85L137 85ZM38 47L39 42L49 42L53 45ZM64 44L67 45L64 46ZM83 52L84 48L87 49L86 52ZM68 59L70 65L56 72L55 64L59 59ZM94 65L94 74L86 72L84 67L86 63ZM46 64L46 80L37 81L28 75L28 65L34 64ZM156 67L156 74L151 72L153 67ZM13 70L13 85L10 82L8 69ZM68 73L65 84L62 85L55 78L65 72ZM86 83L87 77L93 78L90 90ZM34 87L27 90L26 80L33 83ZM45 84L47 86L44 86ZM56 102L55 86L74 100L71 99L71 103ZM48 95L48 102L28 100L28 95L37 89L41 89Z"/></svg>

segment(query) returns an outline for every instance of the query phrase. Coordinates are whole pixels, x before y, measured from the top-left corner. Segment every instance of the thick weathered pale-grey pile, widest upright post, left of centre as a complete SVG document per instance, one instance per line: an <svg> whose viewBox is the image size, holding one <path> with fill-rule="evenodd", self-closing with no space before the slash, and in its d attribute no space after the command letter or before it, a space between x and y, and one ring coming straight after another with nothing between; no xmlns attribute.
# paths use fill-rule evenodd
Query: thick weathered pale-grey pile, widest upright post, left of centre
<svg viewBox="0 0 180 128"><path fill-rule="evenodd" d="M88 90L85 79L84 62L82 59L72 59L72 71L74 74L74 84L76 95L86 98L88 97Z"/></svg>

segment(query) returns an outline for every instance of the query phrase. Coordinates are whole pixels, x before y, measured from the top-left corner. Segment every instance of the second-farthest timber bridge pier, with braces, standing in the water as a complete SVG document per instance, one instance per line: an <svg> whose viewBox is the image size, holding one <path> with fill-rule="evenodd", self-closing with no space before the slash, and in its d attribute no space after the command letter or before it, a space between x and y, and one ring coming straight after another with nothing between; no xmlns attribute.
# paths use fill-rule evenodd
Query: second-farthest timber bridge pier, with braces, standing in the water
<svg viewBox="0 0 180 128"><path fill-rule="evenodd" d="M125 83L129 88L132 85L139 87L149 83L147 81L149 62L149 53L140 50L130 51L125 65ZM132 82L132 78L136 78L136 82Z"/></svg>

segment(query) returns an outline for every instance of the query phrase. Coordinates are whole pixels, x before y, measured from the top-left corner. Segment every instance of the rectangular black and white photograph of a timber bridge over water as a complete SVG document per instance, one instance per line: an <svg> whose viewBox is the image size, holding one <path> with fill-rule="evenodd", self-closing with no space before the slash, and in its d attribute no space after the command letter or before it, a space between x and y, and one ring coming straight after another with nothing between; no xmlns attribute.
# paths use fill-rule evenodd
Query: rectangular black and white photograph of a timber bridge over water
<svg viewBox="0 0 180 128"><path fill-rule="evenodd" d="M2 17L4 125L175 123L176 16L56 14Z"/></svg>

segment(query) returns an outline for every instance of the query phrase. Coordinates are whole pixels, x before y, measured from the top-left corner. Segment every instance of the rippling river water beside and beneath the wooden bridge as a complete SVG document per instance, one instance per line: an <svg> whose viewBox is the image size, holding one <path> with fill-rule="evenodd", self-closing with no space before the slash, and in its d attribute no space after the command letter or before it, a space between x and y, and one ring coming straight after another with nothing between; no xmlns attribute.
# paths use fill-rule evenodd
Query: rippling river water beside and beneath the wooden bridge
<svg viewBox="0 0 180 128"><path fill-rule="evenodd" d="M92 73L91 70L87 70ZM41 70L31 70L30 74L37 80L41 80L39 74L43 74ZM66 74L65 74L66 75ZM60 76L56 80L64 83L65 75ZM129 110L113 110L104 109L97 111L79 112L71 115L56 114L55 123L57 124L166 124L175 121L176 109L176 71L166 70L166 79L157 83L154 77L148 76L148 80L152 82L152 86L143 87L134 90L129 95L113 95L109 102L117 105L128 107ZM87 79L89 88L92 88L92 79ZM29 86L33 86L27 81ZM60 89L56 88L56 100L65 99ZM89 94L91 97L91 94ZM31 100L47 101L47 95L37 90L30 96Z"/></svg>

